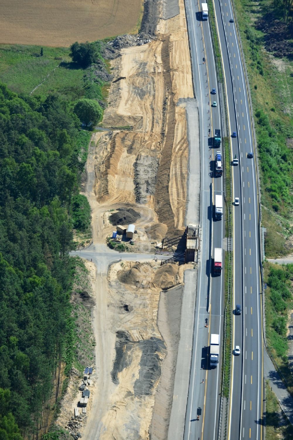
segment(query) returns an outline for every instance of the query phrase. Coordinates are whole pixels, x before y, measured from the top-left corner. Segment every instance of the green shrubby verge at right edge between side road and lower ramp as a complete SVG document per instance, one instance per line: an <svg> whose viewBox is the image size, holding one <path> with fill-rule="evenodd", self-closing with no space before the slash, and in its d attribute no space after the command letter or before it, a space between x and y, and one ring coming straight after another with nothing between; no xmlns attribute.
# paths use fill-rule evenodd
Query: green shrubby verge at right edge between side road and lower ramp
<svg viewBox="0 0 293 440"><path fill-rule="evenodd" d="M293 377L289 367L287 337L288 315L292 313L293 264L264 263L266 337L271 353L293 395Z"/></svg>

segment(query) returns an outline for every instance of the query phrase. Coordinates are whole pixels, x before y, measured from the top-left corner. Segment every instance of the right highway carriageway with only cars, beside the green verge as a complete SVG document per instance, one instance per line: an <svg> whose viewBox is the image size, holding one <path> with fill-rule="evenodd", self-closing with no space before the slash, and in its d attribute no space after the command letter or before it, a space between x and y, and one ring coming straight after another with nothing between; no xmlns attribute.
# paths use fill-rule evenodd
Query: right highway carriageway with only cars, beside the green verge
<svg viewBox="0 0 293 440"><path fill-rule="evenodd" d="M233 345L242 347L232 361L232 396L228 438L262 437L262 319L258 243L258 198L256 165L246 153L253 151L250 109L242 58L229 1L215 2L215 11L227 85L230 126L237 131L232 154L238 149L239 167L233 167L234 194L241 206L234 207L234 304L242 304L240 316L233 316ZM236 153L237 154L237 153ZM236 281L237 280L237 281ZM242 280L240 286L239 280ZM241 325L242 324L242 325Z"/></svg>

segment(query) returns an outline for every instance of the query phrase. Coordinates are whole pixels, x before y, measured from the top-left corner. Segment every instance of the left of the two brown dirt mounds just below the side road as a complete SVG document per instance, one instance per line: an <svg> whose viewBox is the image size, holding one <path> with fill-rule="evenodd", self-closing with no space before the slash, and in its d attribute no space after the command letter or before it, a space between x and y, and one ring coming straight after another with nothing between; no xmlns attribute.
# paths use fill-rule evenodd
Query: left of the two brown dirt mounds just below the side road
<svg viewBox="0 0 293 440"><path fill-rule="evenodd" d="M134 287L148 287L153 276L153 269L148 263L136 263L127 271L117 272L120 282Z"/></svg>

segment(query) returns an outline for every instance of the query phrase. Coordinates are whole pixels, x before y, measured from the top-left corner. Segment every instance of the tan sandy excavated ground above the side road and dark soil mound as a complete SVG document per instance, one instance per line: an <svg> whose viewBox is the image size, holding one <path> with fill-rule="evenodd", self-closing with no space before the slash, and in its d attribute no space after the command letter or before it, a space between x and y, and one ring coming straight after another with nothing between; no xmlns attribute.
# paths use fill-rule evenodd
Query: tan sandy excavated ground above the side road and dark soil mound
<svg viewBox="0 0 293 440"><path fill-rule="evenodd" d="M97 147L99 202L145 206L150 218L178 235L184 228L188 143L184 99L193 97L184 2L161 20L156 40L123 49L103 125L130 127L101 135ZM150 225L148 225L150 226Z"/></svg>

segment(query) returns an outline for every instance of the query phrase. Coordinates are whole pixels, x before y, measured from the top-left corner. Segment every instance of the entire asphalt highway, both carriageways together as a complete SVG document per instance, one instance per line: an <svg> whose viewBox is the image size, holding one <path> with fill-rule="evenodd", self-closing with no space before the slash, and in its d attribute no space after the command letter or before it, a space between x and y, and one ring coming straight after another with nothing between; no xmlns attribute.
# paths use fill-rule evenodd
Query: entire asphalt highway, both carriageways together
<svg viewBox="0 0 293 440"><path fill-rule="evenodd" d="M239 158L239 165L232 166L233 200L240 198L240 205L233 203L233 334L232 345L239 345L240 356L232 356L231 398L229 411L229 439L261 439L263 411L263 346L262 312L260 295L260 261L258 242L258 197L255 151L248 91L244 75L239 39L235 27L232 5L215 1L216 25L220 39L224 66L224 81L227 92L228 125L237 137L229 138L231 157ZM222 191L222 179L213 178L208 171L209 150L207 128L220 128L219 108L210 108L209 94L217 88L216 69L213 59L210 26L201 21L201 3L185 2L188 37L192 57L192 73L195 97L199 106L201 143L201 224L203 226L202 263L199 268L198 298L196 304L194 344L184 439L214 439L218 435L218 394L221 368L209 370L208 346L210 333L221 333L223 299L222 277L210 279L209 328L204 334L201 327L206 313L206 297L209 290L210 251L222 247L223 221L214 222L211 216L210 183L214 194ZM234 23L229 20L233 18ZM203 63L203 57L205 63ZM207 85L207 88L206 88ZM208 92L208 95L206 94ZM206 117L208 116L208 118ZM210 116L210 119L209 119ZM210 124L210 125L209 125ZM212 134L211 136L212 137ZM207 140L207 142L206 142ZM207 145L208 144L208 145ZM210 144L211 147L211 144ZM253 158L247 158L247 152ZM223 253L224 255L224 253ZM234 314L235 305L240 304L242 314ZM221 365L221 357L220 357ZM203 378L201 377L203 376ZM204 382L202 382L204 379ZM200 410L200 411L199 411ZM200 420L196 415L200 413Z"/></svg>

